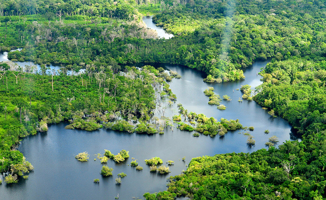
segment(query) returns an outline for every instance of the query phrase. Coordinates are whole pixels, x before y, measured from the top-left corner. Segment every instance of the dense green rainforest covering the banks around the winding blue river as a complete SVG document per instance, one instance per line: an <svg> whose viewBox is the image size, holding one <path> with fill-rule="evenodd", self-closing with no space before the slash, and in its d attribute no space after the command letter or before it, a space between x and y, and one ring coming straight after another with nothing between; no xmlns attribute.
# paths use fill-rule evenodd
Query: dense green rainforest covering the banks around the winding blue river
<svg viewBox="0 0 326 200"><path fill-rule="evenodd" d="M12 61L41 64L41 72L12 63L0 68L1 171L32 167L15 151L19 138L46 131L48 123L100 127L119 117L147 124L154 88L175 95L163 71L120 64L183 64L207 74L207 82L243 79L242 69L270 59L253 99L289 121L302 141L278 148L194 158L171 177L168 190L146 199L326 198L326 13L321 0L38 1L0 0L0 48ZM175 37L158 39L142 15ZM61 72L47 73L47 65ZM67 76L66 71L86 74ZM58 75L60 74L60 75ZM130 77L132 77L130 79ZM44 105L51 105L45 107ZM106 111L106 112L105 112ZM109 124L129 130L119 121ZM17 177L16 177L17 178Z"/></svg>

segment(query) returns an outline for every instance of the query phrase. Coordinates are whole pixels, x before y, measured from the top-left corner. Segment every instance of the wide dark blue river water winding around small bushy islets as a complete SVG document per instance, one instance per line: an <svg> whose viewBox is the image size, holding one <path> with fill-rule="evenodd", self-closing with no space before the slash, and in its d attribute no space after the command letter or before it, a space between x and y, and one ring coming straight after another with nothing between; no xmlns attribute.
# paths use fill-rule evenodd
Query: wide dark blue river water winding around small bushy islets
<svg viewBox="0 0 326 200"><path fill-rule="evenodd" d="M166 102L161 106L165 116L177 114L177 104L181 103L189 112L203 113L207 117L216 119L239 119L244 126L254 126L250 132L256 140L256 145L249 148L246 137L239 131L228 132L224 137L200 135L193 137L192 133L180 131L176 128L166 129L163 135L140 135L115 132L100 129L87 132L82 130L66 130L65 123L49 126L47 133L27 136L22 139L19 150L26 160L31 162L35 169L29 174L27 180L20 180L17 184L0 185L1 199L119 199L130 200L133 197L142 198L146 192L154 193L166 190L166 179L185 170L186 165L193 157L228 152L252 152L265 147L268 138L275 135L280 144L290 140L290 125L281 118L272 118L266 110L255 102L238 102L241 97L241 85L260 84L257 72L264 67L267 61L256 62L244 71L246 79L221 84L204 83L203 74L197 70L180 65L163 64L166 69L177 71L182 78L173 79L170 88L177 95L177 102L169 106ZM159 65L157 65L159 66ZM216 106L207 104L208 97L203 94L208 86L215 88L215 93L223 96L229 95L232 101L222 104L226 110L218 110ZM161 113L162 114L162 113ZM269 129L270 134L264 134ZM240 131L242 132L242 131ZM99 159L94 161L97 153L104 153L104 149L117 154L120 150L129 151L130 158L125 162L116 164L109 160L107 165L113 168L113 176L103 178L99 173L103 164ZM87 151L90 154L88 162L78 162L74 156L79 152ZM170 166L168 175L150 173L144 159L158 156L163 162L174 161ZM185 156L185 162L182 158ZM128 166L137 159L143 167L137 171ZM166 165L166 164L165 164ZM121 185L115 185L118 173L126 173ZM3 177L1 179L4 179ZM99 184L93 183L99 179Z"/></svg>

